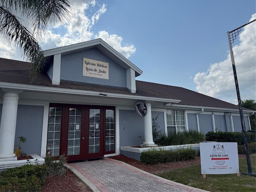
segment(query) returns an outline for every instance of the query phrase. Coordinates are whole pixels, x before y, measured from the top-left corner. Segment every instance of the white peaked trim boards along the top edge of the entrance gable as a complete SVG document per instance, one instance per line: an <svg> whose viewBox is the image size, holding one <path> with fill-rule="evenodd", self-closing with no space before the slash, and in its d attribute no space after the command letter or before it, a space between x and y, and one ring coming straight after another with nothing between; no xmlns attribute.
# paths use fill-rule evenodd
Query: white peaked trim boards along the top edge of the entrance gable
<svg viewBox="0 0 256 192"><path fill-rule="evenodd" d="M86 47L90 47L90 46L97 46L99 44L104 46L104 48L109 50L112 54L114 54L116 57L118 57L120 60L122 60L124 63L126 63L130 68L132 68L133 70L138 72L138 74L140 74L140 75L142 74L142 70L140 70L140 68L138 68L132 62L130 62L128 59L126 59L124 56L122 56L122 54L117 52L114 48L109 46L102 39L95 39L95 40L90 40L90 41L86 41L86 42L82 42L82 43L77 43L77 44L58 47L58 48L54 48L54 49L50 49L50 50L45 50L45 51L43 51L43 53L44 53L44 56L47 57L47 56L52 56L55 54L62 54L64 52L73 51L76 49L82 49L82 48L86 48Z"/></svg>

